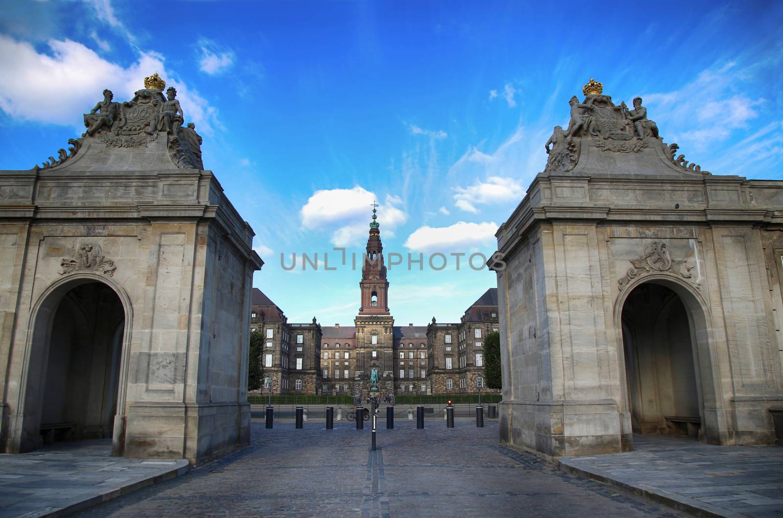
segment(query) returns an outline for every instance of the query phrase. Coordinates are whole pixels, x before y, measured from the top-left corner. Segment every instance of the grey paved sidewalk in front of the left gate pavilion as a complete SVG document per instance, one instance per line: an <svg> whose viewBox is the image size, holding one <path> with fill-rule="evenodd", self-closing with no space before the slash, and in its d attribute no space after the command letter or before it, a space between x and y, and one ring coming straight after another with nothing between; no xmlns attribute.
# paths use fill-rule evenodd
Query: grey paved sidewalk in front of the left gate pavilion
<svg viewBox="0 0 783 518"><path fill-rule="evenodd" d="M0 454L0 518L65 516L186 473L186 460L112 457L111 440Z"/></svg>

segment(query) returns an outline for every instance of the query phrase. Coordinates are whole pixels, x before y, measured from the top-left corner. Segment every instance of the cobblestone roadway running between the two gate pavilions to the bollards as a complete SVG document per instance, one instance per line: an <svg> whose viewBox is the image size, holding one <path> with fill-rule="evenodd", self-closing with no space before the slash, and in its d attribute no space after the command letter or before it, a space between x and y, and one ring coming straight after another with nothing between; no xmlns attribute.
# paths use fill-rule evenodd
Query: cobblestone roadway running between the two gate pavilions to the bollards
<svg viewBox="0 0 783 518"><path fill-rule="evenodd" d="M369 428L254 422L251 447L75 516L687 516L500 446L496 422L395 424L373 452Z"/></svg>

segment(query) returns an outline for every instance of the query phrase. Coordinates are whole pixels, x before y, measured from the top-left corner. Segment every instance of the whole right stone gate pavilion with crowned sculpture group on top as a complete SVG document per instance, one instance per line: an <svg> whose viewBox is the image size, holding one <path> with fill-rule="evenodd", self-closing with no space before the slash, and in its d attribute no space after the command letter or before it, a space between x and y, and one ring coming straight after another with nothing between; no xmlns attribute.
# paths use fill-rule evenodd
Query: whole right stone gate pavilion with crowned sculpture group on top
<svg viewBox="0 0 783 518"><path fill-rule="evenodd" d="M774 442L783 182L706 172L640 98L583 93L496 234L501 439L545 458L633 433Z"/></svg>

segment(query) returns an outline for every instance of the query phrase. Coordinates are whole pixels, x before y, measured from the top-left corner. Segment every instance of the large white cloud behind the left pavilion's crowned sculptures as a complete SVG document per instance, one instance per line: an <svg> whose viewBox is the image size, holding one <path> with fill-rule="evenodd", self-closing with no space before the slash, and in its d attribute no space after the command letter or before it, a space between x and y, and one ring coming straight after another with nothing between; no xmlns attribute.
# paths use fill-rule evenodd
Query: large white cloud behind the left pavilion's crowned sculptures
<svg viewBox="0 0 783 518"><path fill-rule="evenodd" d="M78 42L49 40L48 45L51 56L0 35L0 109L13 118L81 127L81 115L102 100L103 89L112 90L114 100L131 100L144 78L157 71L177 89L186 121L198 132L211 135L222 128L215 107L167 71L161 54L143 52L136 63L121 67Z"/></svg>

